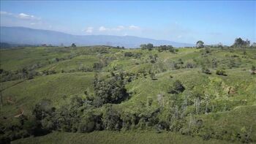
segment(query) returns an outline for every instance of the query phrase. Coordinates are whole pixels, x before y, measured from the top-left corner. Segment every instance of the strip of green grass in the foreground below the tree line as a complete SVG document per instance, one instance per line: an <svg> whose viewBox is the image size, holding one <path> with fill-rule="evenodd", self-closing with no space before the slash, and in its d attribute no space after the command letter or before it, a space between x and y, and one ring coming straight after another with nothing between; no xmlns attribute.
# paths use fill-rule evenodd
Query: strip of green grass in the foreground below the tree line
<svg viewBox="0 0 256 144"><path fill-rule="evenodd" d="M200 137L189 137L175 133L155 132L91 132L89 134L53 132L43 137L29 137L15 140L12 143L228 143L222 140L202 140Z"/></svg>

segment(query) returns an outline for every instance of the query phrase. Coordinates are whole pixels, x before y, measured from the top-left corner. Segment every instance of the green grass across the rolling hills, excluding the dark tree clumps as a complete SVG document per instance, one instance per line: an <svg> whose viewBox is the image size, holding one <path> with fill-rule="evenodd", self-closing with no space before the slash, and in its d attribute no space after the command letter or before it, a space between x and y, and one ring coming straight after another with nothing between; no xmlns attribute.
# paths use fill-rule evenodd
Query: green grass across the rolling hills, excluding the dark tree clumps
<svg viewBox="0 0 256 144"><path fill-rule="evenodd" d="M134 55L124 56L125 53ZM102 80L110 78L111 72L135 75L131 82L125 83L129 99L113 104L118 113L143 117L160 109L158 120L170 122L168 115L178 107L182 121L186 121L175 133L164 131L158 134L151 131L152 127L146 127L150 129L147 131L139 126L140 121L129 132L53 132L13 143L256 143L256 75L251 74L252 66L256 65L254 48L246 49L244 54L241 48L211 48L210 53L205 49L181 48L170 53L105 46L39 47L1 50L0 60L1 69L12 72L12 75L23 68L33 68L33 72L37 72L29 79L4 81L6 76L1 75L3 105L0 124L5 127L19 125L18 118L15 118L19 110L31 118L32 110L42 99L50 99L53 107L58 109L71 102L72 96L94 97L96 71ZM95 69L95 63L102 64L100 70ZM202 67L207 67L211 75L203 73ZM217 75L217 69L224 69L227 76ZM46 71L53 72L46 74ZM154 78L150 72L154 73ZM124 77L125 80L128 78ZM176 80L181 81L185 89L170 94L170 86ZM196 97L200 97L199 106L195 105L199 99ZM95 108L97 113L104 110L104 105ZM190 132L193 119L202 121L202 124L194 124L196 130Z"/></svg>

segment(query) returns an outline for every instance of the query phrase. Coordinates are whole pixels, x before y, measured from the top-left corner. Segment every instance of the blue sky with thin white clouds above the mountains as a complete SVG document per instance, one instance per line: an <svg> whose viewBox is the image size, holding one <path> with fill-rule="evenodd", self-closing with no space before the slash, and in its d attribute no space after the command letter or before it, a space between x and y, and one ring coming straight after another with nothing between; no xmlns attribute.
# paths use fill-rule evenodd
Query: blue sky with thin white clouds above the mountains
<svg viewBox="0 0 256 144"><path fill-rule="evenodd" d="M1 1L1 26L175 42L256 42L256 1Z"/></svg>

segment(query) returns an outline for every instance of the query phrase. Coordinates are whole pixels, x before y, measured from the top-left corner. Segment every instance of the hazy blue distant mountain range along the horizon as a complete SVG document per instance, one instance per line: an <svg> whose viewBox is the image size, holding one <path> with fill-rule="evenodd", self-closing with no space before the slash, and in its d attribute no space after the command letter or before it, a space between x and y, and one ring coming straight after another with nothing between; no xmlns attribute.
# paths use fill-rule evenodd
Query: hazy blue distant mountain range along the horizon
<svg viewBox="0 0 256 144"><path fill-rule="evenodd" d="M173 45L173 47L190 47L192 44L170 42L133 36L112 35L72 35L59 31L42 29L30 29L24 27L1 26L0 42L20 45L110 45L124 46L125 48L138 48L141 44L152 43L153 45Z"/></svg>

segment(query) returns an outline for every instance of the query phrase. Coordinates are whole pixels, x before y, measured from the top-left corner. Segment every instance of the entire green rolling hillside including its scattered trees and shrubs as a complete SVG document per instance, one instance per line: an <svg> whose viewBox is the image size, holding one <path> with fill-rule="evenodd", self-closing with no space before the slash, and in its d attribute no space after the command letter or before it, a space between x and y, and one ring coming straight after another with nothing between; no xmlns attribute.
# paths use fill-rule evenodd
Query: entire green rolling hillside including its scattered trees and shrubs
<svg viewBox="0 0 256 144"><path fill-rule="evenodd" d="M0 142L256 143L256 48L37 47L0 61Z"/></svg>

